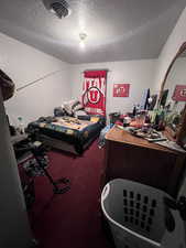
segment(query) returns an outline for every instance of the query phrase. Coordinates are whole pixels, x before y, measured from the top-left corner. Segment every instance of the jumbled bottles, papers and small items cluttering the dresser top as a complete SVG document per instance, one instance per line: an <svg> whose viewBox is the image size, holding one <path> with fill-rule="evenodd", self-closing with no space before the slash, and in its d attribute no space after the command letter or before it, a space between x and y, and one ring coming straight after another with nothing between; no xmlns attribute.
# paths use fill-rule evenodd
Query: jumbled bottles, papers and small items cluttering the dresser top
<svg viewBox="0 0 186 248"><path fill-rule="evenodd" d="M164 105L164 107L155 109L150 108L153 110L147 110L147 106L144 109L141 105L135 104L131 112L123 115L121 112L112 112L109 115L110 123L114 123L118 128L127 130L132 136L145 139L149 142L156 142L172 150L184 151L176 144L176 139L173 139L173 134L168 134L167 125L171 122L174 128L174 126L179 123L180 116L178 114L173 115L173 111L169 111L171 105ZM175 108L174 106L173 109ZM169 128L171 131L173 131L173 128Z"/></svg>

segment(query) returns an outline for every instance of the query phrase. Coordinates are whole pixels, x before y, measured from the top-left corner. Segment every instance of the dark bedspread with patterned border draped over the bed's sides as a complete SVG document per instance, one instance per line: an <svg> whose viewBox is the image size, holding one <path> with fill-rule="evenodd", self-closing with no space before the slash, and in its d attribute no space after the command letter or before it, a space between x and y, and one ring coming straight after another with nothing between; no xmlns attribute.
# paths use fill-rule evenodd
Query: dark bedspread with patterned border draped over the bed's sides
<svg viewBox="0 0 186 248"><path fill-rule="evenodd" d="M91 120L92 116L79 117L80 120ZM99 136L101 129L105 127L105 117L99 116L97 122L91 122L87 127L77 130L69 127L54 125L55 118L40 118L36 121L29 123L28 132L47 136L50 138L66 141L75 147L77 153L84 151L87 142L94 140Z"/></svg>

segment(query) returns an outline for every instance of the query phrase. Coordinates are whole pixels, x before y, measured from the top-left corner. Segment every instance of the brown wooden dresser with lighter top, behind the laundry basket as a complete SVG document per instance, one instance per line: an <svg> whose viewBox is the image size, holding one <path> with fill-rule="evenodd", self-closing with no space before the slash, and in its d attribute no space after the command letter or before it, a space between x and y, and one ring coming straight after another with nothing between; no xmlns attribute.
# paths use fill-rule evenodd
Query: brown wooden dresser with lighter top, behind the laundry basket
<svg viewBox="0 0 186 248"><path fill-rule="evenodd" d="M161 188L176 196L186 154L136 138L114 126L106 134L101 184L128 179Z"/></svg>

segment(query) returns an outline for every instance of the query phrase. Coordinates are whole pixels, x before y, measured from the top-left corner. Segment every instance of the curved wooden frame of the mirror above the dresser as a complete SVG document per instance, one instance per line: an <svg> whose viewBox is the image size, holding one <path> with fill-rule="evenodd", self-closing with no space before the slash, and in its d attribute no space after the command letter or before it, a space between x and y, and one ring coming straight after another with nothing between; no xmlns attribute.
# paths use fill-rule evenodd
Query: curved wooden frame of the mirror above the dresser
<svg viewBox="0 0 186 248"><path fill-rule="evenodd" d="M176 60L179 57L179 55L186 51L186 42L184 42L180 47L178 48L176 55L174 56L173 61L171 62L167 71L166 71L166 74L165 74L165 77L162 82L162 85L161 85L161 90L160 90L160 96L158 96L158 103L157 103L157 107L160 107L160 103L161 103L161 98L162 98L162 95L163 95L163 90L164 90L164 87L165 87L165 84L166 84L166 79L168 77L168 74L174 65L174 63L176 62ZM183 139L184 137L186 137L186 105L185 105L185 109L184 109L184 114L182 116L182 120L180 120L180 128L179 130L176 132L176 142L179 144L179 145L184 145L183 143ZM172 137L173 138L173 137Z"/></svg>

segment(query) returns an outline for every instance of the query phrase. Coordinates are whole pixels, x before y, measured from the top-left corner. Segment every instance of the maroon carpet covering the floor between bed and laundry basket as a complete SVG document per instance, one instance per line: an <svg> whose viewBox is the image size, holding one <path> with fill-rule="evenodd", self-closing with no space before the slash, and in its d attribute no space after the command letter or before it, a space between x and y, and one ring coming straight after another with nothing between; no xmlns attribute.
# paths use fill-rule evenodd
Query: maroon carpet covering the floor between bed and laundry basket
<svg viewBox="0 0 186 248"><path fill-rule="evenodd" d="M83 157L54 151L48 155L48 171L53 177L68 177L72 188L53 196L47 179L36 177L31 224L40 247L110 248L101 224L99 203L103 151L95 141Z"/></svg>

